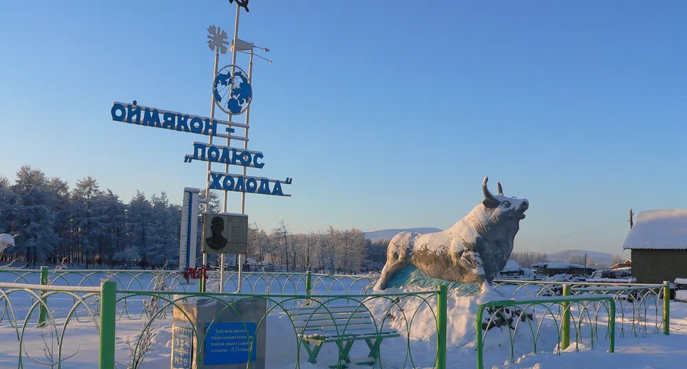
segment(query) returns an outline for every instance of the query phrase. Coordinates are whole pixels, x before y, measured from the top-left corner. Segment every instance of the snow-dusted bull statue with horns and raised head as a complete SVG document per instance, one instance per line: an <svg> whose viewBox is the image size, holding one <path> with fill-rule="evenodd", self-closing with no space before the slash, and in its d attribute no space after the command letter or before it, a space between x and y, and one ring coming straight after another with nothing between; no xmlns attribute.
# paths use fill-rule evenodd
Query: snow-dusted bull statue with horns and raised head
<svg viewBox="0 0 687 369"><path fill-rule="evenodd" d="M491 282L513 251L513 240L525 218L526 199L505 197L501 183L493 195L482 181L484 200L452 227L441 232L396 234L377 289L386 289L398 271L414 265L425 276L458 283Z"/></svg>

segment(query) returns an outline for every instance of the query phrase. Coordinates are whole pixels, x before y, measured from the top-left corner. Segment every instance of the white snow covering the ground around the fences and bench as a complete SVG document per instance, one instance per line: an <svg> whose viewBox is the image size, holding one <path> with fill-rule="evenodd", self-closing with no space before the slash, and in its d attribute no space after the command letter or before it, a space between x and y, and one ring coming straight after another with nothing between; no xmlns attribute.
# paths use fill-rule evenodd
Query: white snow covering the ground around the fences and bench
<svg viewBox="0 0 687 369"><path fill-rule="evenodd" d="M1 276L1 274L0 274ZM3 280L4 282L4 280ZM337 288L337 290L345 290ZM398 292L394 290L387 293ZM490 300L508 300L513 291L484 291L480 295L468 295L462 291L449 291L448 301L448 337L447 337L447 367L448 368L475 368L477 355L475 352L475 313L477 305ZM49 328L36 328L35 322L30 322L22 331L23 317L31 304L31 298L27 293L18 292L10 295L12 309L7 306L0 322L0 368L18 367L19 344L18 335L23 335L22 361L23 368L46 368L44 364L38 364L27 355L44 363L49 361L45 357L45 348L51 344ZM64 317L73 306L74 299L61 294L48 299L51 313L56 317L58 333L61 335ZM648 306L652 306L649 304ZM130 313L136 315L140 312L140 303L131 302L128 306ZM388 301L373 300L368 307L375 316L384 314ZM410 338L407 337L405 324L407 320L396 318L387 324L402 333L402 337L385 339L381 348L382 368L431 368L436 357L436 323L433 309L436 299L432 298L428 304L422 304L418 299L411 299L403 304L407 320L411 319ZM0 302L0 309L3 303ZM121 309L121 306L120 306ZM20 322L19 331L9 325L8 311L14 313L16 320ZM399 313L394 313L398 315ZM37 313L32 315L35 320ZM539 314L541 315L541 314ZM535 316L539 316L535 314ZM575 315L575 311L573 311ZM570 348L560 355L556 353L558 333L552 321L544 318L543 328L537 338L537 353L532 353L532 333L526 326L521 326L515 335L513 348L516 362L510 363L510 332L507 328L492 328L486 334L484 341L484 367L485 368L679 368L687 362L687 303L671 302L671 335L653 334L653 317L647 314L649 320L649 334L643 334L639 330L635 334L624 326L624 337L620 335L620 326L616 328L616 352L608 353L609 341L605 338L606 327L603 326L605 316L599 319L600 328L598 340L594 341L594 348L590 348L589 333L582 330L582 343L577 348L574 337L571 337ZM80 317L84 313L80 313ZM660 317L659 317L660 319ZM121 368L128 364L131 349L127 342L135 344L135 339L144 324L144 320L128 320L123 318L116 324L116 352L115 361ZM523 324L523 323L521 323ZM653 330L652 330L653 329ZM156 320L153 323L155 332L153 342L155 345L144 359L143 369L169 368L171 360L171 317ZM63 362L62 368L97 368L98 366L98 333L93 322L83 320L73 321L67 325L63 337L63 358L76 353L74 357ZM45 334L47 345L41 338ZM52 350L56 350L55 344ZM407 350L409 347L409 350ZM293 333L291 320L285 313L270 314L267 320L267 368L295 368L297 340ZM351 357L365 357L368 354L367 345L364 342L356 342L351 351ZM326 368L332 364L337 355L335 344L325 344L318 356L318 364L308 364L308 357L304 348L300 349L300 368L314 369ZM48 355L49 356L49 350ZM54 357L57 357L54 353ZM350 368L357 368L355 365ZM360 368L369 368L361 366Z"/></svg>

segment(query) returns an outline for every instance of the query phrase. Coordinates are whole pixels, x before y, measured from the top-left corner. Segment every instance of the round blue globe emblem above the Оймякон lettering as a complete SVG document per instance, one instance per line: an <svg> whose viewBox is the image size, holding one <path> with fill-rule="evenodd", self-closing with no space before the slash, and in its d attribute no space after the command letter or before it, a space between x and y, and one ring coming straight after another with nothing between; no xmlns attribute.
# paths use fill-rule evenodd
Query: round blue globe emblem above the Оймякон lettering
<svg viewBox="0 0 687 369"><path fill-rule="evenodd" d="M212 96L219 109L227 114L237 115L248 109L253 99L253 88L243 69L236 65L227 65L215 76Z"/></svg>

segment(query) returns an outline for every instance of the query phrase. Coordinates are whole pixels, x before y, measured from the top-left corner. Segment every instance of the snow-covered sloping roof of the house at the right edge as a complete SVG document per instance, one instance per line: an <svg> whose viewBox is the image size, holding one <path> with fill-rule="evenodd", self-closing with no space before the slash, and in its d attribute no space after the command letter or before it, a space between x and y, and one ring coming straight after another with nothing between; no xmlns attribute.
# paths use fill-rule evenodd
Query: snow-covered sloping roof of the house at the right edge
<svg viewBox="0 0 687 369"><path fill-rule="evenodd" d="M687 209L640 212L622 248L686 250Z"/></svg>

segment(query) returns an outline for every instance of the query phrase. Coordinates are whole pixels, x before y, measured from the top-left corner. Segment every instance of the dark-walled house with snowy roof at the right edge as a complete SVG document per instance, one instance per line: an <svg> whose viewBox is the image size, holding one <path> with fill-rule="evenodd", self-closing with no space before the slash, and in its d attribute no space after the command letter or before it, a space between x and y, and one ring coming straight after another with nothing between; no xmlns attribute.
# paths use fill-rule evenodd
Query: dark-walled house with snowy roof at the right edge
<svg viewBox="0 0 687 369"><path fill-rule="evenodd" d="M638 283L687 278L687 210L640 212L622 248L631 250Z"/></svg>

